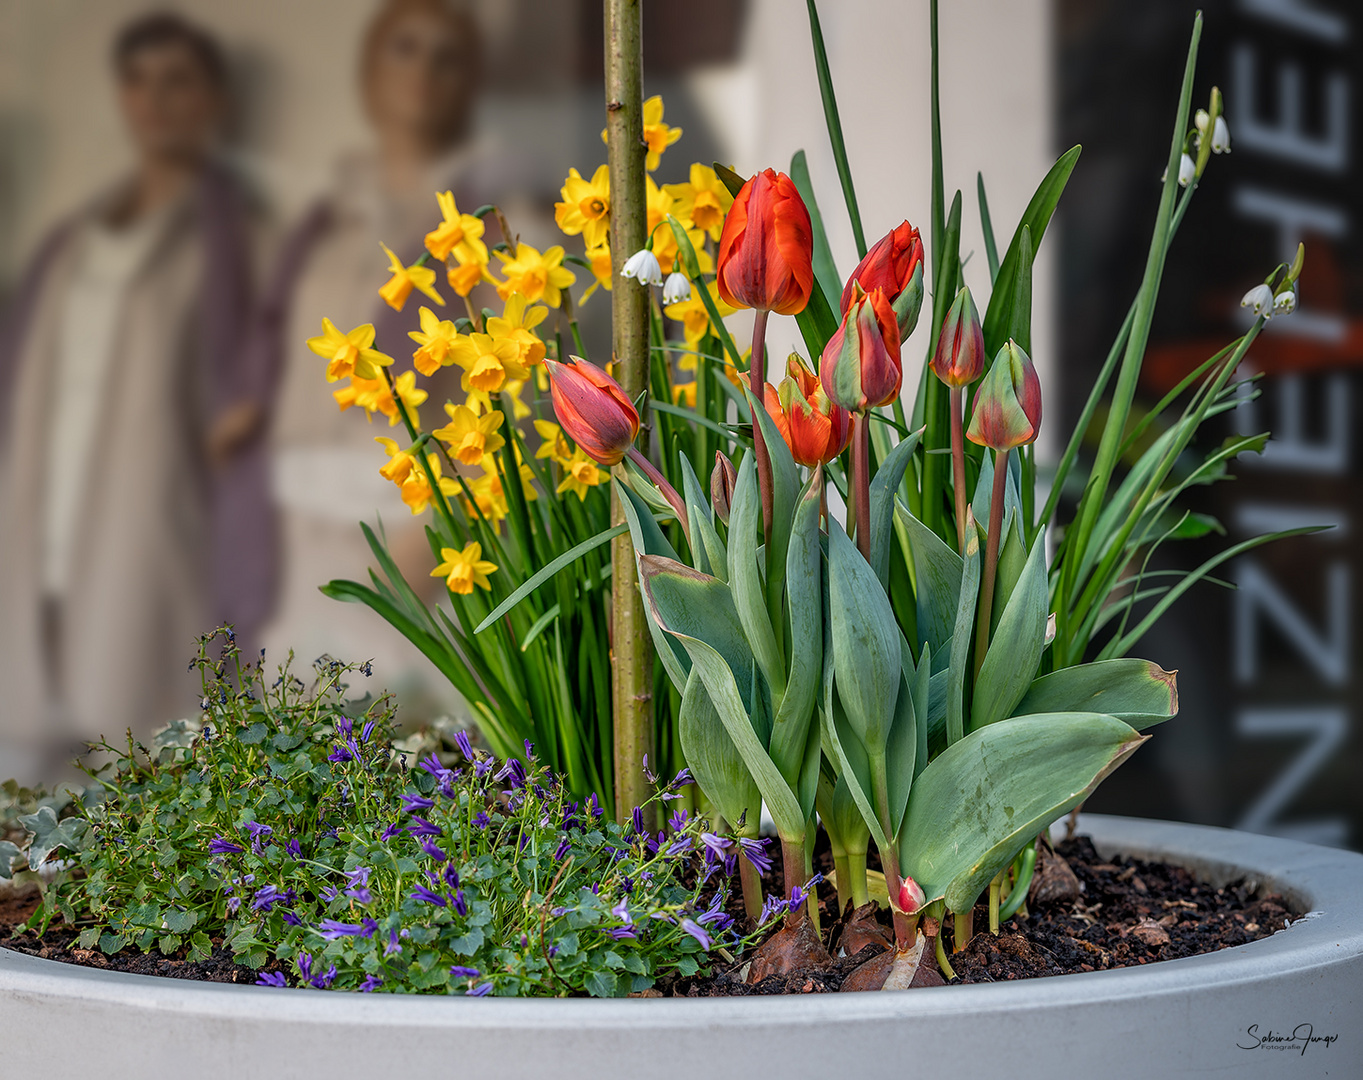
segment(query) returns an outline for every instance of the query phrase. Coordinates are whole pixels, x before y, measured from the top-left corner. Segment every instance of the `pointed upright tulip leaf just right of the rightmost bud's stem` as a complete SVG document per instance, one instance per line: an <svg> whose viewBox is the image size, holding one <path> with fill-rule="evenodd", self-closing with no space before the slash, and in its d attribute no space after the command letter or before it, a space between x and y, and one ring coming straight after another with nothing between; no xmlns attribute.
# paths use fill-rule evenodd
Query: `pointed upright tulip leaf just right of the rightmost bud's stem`
<svg viewBox="0 0 1363 1080"><path fill-rule="evenodd" d="M1041 530L980 664L970 698L972 731L1010 716L1036 678L1045 648L1048 600L1045 530Z"/></svg>

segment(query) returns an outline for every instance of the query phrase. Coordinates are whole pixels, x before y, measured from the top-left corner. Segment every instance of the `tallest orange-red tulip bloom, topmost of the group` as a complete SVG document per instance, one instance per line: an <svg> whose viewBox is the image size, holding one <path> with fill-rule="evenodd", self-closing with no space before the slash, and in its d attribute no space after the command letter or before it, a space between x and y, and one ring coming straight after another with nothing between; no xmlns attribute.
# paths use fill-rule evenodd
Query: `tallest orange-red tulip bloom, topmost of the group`
<svg viewBox="0 0 1363 1080"><path fill-rule="evenodd" d="M814 230L795 181L766 169L733 199L720 233L717 285L731 307L797 315L814 288Z"/></svg>

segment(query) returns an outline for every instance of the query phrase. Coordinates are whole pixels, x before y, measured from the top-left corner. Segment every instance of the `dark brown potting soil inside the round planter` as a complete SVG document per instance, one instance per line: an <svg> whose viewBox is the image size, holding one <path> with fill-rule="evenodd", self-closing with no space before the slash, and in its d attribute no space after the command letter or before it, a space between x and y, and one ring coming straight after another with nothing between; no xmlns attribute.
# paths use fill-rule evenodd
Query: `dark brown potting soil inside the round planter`
<svg viewBox="0 0 1363 1080"><path fill-rule="evenodd" d="M815 865L830 870L827 841L822 835L819 841ZM765 885L780 888L774 880ZM706 978L662 979L642 995L837 993L857 967L889 948L889 912L838 912L837 895L827 882L819 885L818 897L823 945L831 957L827 963L750 983L752 955L748 953L732 964L721 961ZM72 927L53 926L42 937L12 934L33 914L37 900L35 892L0 899L0 945L45 960L136 975L202 982L256 980L258 972L234 963L221 941L213 942L214 952L207 960L188 960L183 955L159 952L124 949L106 956L98 949L80 949L75 945L78 930ZM741 897L732 899L732 908L731 914L741 920ZM977 905L975 937L949 959L958 983L1135 967L1243 945L1277 933L1299 914L1292 912L1281 896L1258 896L1251 882L1232 882L1219 889L1178 866L1127 858L1104 860L1089 839L1081 836L1058 845L1055 852L1043 851L1025 918L1009 919L995 937L988 931L988 907ZM925 963L931 965L931 960ZM274 967L277 964L270 964L267 970Z"/></svg>

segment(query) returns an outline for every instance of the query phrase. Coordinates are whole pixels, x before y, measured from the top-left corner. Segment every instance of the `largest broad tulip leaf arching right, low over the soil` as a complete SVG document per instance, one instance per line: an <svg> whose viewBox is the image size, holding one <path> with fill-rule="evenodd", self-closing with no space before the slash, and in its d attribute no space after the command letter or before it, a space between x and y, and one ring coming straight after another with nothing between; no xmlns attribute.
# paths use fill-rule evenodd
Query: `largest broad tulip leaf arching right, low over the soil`
<svg viewBox="0 0 1363 1080"><path fill-rule="evenodd" d="M1015 716L935 758L909 794L900 869L968 911L994 875L1149 736L1101 713Z"/></svg>

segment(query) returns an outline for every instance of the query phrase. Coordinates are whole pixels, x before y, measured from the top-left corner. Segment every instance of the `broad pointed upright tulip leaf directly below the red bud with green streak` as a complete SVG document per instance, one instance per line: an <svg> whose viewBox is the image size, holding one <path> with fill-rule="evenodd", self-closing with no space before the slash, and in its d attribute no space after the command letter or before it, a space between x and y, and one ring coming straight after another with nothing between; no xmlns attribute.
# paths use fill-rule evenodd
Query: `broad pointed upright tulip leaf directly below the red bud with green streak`
<svg viewBox="0 0 1363 1080"><path fill-rule="evenodd" d="M838 697L874 765L886 751L904 678L900 625L871 566L831 520L829 626Z"/></svg>

